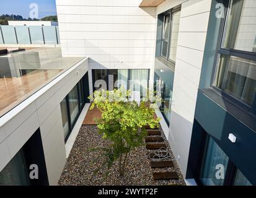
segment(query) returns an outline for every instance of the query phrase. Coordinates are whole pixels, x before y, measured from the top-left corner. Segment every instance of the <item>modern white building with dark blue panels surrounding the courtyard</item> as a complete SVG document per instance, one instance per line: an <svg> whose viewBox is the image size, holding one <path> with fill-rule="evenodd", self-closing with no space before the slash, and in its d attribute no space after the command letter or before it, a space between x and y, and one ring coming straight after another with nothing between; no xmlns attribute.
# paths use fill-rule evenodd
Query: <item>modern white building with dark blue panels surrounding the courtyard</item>
<svg viewBox="0 0 256 198"><path fill-rule="evenodd" d="M0 118L0 176L20 149L42 142L40 184L58 184L89 106L80 97L96 80L112 88L112 75L164 98L156 114L187 184L256 184L254 0L56 0L56 8L61 51L33 53L39 67L66 69ZM216 179L217 165L224 178Z"/></svg>

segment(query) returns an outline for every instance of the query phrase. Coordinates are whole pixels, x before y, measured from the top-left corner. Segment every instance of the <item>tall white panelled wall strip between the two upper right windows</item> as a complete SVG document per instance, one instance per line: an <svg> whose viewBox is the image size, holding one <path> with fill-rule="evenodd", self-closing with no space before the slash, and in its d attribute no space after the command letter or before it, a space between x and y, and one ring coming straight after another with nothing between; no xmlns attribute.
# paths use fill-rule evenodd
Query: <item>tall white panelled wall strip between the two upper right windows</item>
<svg viewBox="0 0 256 198"><path fill-rule="evenodd" d="M157 7L157 14L179 4L182 9L168 138L185 176L211 1L167 0Z"/></svg>

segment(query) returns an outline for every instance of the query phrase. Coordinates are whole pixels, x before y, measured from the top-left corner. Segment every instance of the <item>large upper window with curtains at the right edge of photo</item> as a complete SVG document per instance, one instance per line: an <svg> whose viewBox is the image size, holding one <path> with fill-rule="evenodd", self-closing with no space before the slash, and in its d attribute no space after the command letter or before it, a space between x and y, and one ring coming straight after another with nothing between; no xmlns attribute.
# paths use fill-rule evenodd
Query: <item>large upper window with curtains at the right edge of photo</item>
<svg viewBox="0 0 256 198"><path fill-rule="evenodd" d="M214 87L255 113L256 1L231 0L226 7Z"/></svg>

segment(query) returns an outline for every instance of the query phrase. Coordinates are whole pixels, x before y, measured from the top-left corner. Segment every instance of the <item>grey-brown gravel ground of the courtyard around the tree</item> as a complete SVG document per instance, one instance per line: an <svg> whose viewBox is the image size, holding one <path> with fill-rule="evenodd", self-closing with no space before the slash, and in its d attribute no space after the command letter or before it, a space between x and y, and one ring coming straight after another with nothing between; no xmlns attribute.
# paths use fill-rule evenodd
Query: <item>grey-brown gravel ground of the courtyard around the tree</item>
<svg viewBox="0 0 256 198"><path fill-rule="evenodd" d="M161 130L162 131L162 130ZM162 135L163 136L163 135ZM163 136L164 137L164 136ZM99 150L92 151L97 147L105 147L109 144L107 140L102 140L97 126L82 126L68 161L64 167L59 181L60 185L185 185L182 174L177 166L174 155L171 159L174 168L156 168L154 171L176 171L180 178L172 180L154 181L153 169L149 166L149 159L146 147L139 147L128 155L128 166L126 166L125 176L118 174L118 165L109 170L106 177L106 168L102 168L103 157ZM95 162L95 158L97 161ZM100 168L100 171L94 171Z"/></svg>

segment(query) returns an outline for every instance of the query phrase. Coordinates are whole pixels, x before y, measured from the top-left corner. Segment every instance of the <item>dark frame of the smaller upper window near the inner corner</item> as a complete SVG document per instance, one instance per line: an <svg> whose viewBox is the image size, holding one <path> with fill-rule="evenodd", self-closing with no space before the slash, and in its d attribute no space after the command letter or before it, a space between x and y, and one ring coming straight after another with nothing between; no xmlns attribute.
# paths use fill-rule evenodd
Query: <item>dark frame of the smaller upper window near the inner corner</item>
<svg viewBox="0 0 256 198"><path fill-rule="evenodd" d="M173 20L173 14L175 12L179 12L181 11L181 6L175 6L172 9L163 12L162 14L162 29L161 29L161 46L160 46L160 55L158 56L160 59L164 59L164 61L167 61L169 64L171 64L171 66L175 67L175 61L173 61L172 59L169 58L169 52L170 52L170 44L171 44L171 39L172 39L172 20ZM163 34L164 34L164 25L165 25L165 17L166 15L170 15L170 26L169 26L169 38L166 40L163 38ZM162 56L162 42L165 41L167 42L167 51L166 51L166 57Z"/></svg>

